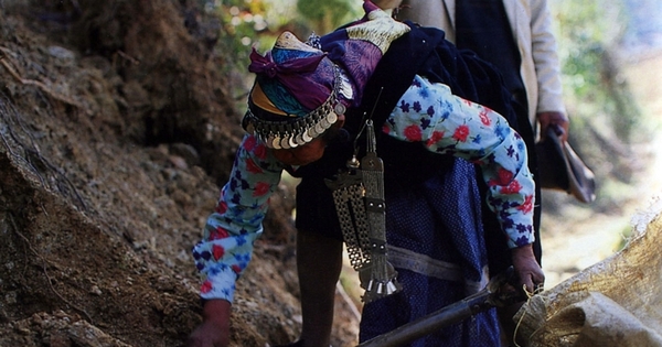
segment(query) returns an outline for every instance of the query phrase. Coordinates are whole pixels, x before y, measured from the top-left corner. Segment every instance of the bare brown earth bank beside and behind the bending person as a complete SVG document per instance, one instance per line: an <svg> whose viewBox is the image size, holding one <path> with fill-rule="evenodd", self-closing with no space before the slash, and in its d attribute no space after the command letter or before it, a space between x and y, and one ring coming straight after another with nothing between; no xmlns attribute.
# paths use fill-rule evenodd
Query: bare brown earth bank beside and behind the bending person
<svg viewBox="0 0 662 347"><path fill-rule="evenodd" d="M0 1L0 346L182 346L201 322L190 249L242 130L194 3ZM233 346L298 334L291 187L271 204Z"/></svg>

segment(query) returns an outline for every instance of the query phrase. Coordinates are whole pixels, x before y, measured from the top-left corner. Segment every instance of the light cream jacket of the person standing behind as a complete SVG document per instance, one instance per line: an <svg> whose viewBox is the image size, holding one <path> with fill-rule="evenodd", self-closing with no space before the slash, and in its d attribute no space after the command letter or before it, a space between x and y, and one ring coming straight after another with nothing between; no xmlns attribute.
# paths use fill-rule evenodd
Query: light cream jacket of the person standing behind
<svg viewBox="0 0 662 347"><path fill-rule="evenodd" d="M537 128L536 113L566 113L552 15L547 0L503 0L503 7L522 57L520 75L526 87L528 119ZM455 42L455 10L456 0L405 0L397 19L439 28Z"/></svg>

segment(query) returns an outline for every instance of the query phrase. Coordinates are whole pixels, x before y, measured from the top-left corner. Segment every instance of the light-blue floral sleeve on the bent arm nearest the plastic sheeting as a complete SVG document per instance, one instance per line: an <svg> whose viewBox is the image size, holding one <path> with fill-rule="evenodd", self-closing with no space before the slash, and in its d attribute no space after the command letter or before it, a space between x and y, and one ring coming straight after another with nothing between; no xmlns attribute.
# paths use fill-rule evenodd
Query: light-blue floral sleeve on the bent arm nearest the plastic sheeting
<svg viewBox="0 0 662 347"><path fill-rule="evenodd" d="M416 76L383 131L480 165L489 187L488 205L496 213L509 247L534 241L535 185L526 147L501 115L452 95L446 85Z"/></svg>

